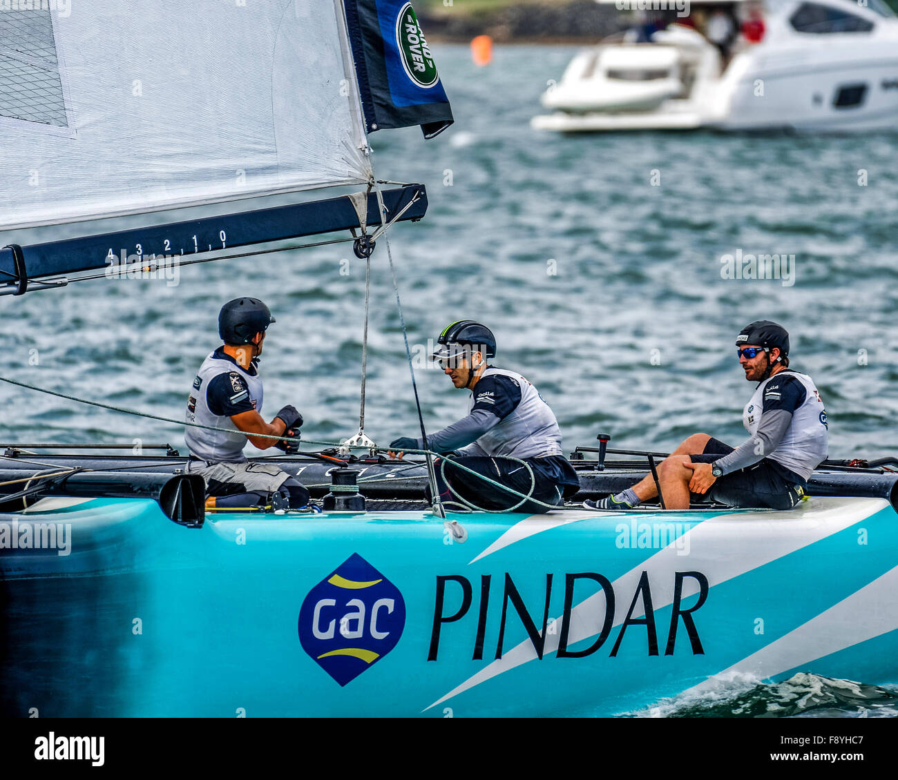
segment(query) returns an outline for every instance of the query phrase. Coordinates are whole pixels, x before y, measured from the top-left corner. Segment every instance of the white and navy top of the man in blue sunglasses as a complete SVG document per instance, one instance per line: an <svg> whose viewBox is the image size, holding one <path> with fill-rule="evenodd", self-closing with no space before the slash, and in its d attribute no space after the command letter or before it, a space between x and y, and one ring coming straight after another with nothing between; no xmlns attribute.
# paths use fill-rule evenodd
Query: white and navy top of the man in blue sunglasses
<svg viewBox="0 0 898 780"><path fill-rule="evenodd" d="M742 421L750 438L717 461L724 474L768 458L807 480L829 453L823 399L804 373L787 368L762 381Z"/></svg>

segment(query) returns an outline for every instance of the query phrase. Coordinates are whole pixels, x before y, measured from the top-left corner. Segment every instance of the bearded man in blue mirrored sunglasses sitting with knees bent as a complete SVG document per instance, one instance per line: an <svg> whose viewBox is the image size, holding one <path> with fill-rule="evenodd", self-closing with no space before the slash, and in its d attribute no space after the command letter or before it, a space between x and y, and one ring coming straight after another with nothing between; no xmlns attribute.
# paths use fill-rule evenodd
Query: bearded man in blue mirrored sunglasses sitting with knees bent
<svg viewBox="0 0 898 780"><path fill-rule="evenodd" d="M826 409L814 380L788 367L788 333L769 320L736 337L745 379L758 382L745 405L749 438L735 450L709 434L692 434L661 463L658 481L667 509L690 500L730 506L791 509L828 453ZM658 495L651 476L588 509L629 509Z"/></svg>

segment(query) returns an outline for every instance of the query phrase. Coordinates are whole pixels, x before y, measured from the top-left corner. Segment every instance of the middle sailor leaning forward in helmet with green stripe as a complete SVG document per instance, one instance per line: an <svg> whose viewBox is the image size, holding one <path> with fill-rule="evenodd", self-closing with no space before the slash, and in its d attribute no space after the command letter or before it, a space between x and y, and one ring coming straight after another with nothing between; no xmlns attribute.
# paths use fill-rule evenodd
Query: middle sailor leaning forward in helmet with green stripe
<svg viewBox="0 0 898 780"><path fill-rule="evenodd" d="M562 504L565 497L577 493L577 472L561 454L561 432L549 405L521 374L487 364L496 355L492 331L480 322L460 320L446 328L437 343L433 359L457 389L471 390L468 416L427 436L431 450L453 454L453 460L445 461L446 481L440 476L441 461L436 462L441 498L457 501L462 496L484 509L520 504L515 512L546 511L540 504L524 502L473 474L453 469L453 463L546 504ZM394 439L390 448L420 450L423 446L420 439L402 437Z"/></svg>

